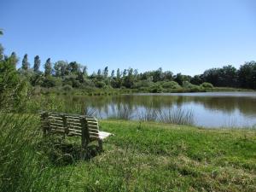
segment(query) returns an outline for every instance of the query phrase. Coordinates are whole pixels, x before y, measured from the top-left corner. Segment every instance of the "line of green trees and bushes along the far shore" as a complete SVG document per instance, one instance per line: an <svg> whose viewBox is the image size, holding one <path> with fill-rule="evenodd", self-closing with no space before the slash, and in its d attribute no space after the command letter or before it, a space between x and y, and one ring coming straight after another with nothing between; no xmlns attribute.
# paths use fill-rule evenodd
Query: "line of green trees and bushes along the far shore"
<svg viewBox="0 0 256 192"><path fill-rule="evenodd" d="M19 61L15 52L10 56L3 55L3 47L0 46L0 60L11 60L13 65ZM189 76L182 73L173 74L171 71L157 70L138 73L137 69L111 70L108 66L89 74L87 67L77 61L56 61L48 58L44 62L44 71L40 71L42 62L39 55L33 58L32 65L25 54L21 67L17 69L22 79L26 79L32 86L45 88L64 87L67 90L78 88L123 88L123 89L150 89L159 92L162 88L180 89L191 88L204 82L217 87L234 87L256 89L256 62L245 62L238 69L231 65L211 68L204 73ZM168 83L169 82L169 83Z"/></svg>

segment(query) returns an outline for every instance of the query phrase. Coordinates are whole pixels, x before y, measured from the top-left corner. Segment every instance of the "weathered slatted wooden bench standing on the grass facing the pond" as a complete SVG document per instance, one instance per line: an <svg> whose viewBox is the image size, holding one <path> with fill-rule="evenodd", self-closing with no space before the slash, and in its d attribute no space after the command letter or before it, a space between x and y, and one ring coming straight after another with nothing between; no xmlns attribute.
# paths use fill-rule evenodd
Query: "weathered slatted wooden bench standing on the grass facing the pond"
<svg viewBox="0 0 256 192"><path fill-rule="evenodd" d="M102 151L102 141L113 135L109 132L99 131L99 123L95 117L69 113L41 113L42 128L44 136L59 133L63 137L81 137L82 148L86 149L88 144L97 141Z"/></svg>

